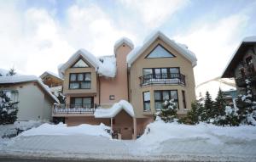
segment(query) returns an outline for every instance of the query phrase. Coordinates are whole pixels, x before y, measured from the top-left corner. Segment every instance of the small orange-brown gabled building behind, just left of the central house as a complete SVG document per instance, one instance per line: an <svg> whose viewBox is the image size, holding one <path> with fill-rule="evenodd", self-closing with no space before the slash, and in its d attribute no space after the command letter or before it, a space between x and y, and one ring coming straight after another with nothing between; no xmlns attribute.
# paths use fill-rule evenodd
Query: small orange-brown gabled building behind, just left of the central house
<svg viewBox="0 0 256 162"><path fill-rule="evenodd" d="M42 75L40 75L40 78L44 84L49 87L50 91L58 97L62 91L63 79L61 79L59 75L56 75L50 71L45 71Z"/></svg>

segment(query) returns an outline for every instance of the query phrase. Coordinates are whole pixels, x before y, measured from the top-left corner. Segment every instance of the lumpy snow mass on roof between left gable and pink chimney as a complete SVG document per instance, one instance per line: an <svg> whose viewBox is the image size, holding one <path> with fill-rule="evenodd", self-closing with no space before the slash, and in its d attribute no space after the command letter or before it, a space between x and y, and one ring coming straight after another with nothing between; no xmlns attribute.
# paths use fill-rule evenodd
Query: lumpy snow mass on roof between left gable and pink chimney
<svg viewBox="0 0 256 162"><path fill-rule="evenodd" d="M108 77L114 77L116 74L116 59L114 56L101 57L102 61L98 67L98 73Z"/></svg>

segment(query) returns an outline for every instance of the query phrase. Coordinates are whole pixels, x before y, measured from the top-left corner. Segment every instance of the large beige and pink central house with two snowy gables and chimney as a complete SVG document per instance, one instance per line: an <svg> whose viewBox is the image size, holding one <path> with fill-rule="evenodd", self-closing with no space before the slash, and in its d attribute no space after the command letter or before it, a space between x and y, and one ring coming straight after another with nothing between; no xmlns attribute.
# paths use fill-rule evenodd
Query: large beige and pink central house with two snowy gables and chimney
<svg viewBox="0 0 256 162"><path fill-rule="evenodd" d="M61 65L67 99L55 107L54 117L65 118L68 126L102 122L117 137L131 139L143 134L165 100L177 103L178 115L191 109L197 60L188 47L158 31L141 47L121 38L113 52L96 58L80 49Z"/></svg>

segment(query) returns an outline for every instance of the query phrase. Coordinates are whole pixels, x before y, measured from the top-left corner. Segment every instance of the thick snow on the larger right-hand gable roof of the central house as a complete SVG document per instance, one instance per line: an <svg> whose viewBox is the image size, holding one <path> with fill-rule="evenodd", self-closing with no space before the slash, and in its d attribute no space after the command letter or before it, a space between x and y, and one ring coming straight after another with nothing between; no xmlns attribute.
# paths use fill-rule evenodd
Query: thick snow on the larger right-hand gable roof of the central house
<svg viewBox="0 0 256 162"><path fill-rule="evenodd" d="M131 53L127 55L126 61L128 66L131 67L131 64L136 61L136 59L157 39L160 38L162 41L166 42L169 46L177 50L178 53L181 53L186 59L192 63L193 67L196 65L197 59L195 53L190 51L188 47L184 44L177 43L167 36L165 36L161 31L155 32L153 35L147 37L143 42L143 46L135 47Z"/></svg>

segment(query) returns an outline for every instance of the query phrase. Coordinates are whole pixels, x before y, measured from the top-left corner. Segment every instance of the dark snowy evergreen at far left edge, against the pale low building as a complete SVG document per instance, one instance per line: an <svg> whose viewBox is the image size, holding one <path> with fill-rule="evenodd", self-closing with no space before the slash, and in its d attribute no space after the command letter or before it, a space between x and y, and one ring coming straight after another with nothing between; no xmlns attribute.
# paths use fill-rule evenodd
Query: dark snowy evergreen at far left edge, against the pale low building
<svg viewBox="0 0 256 162"><path fill-rule="evenodd" d="M6 92L0 91L0 125L13 124L17 120L17 102L11 102Z"/></svg>

